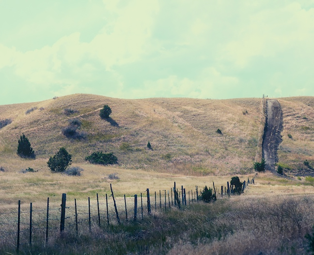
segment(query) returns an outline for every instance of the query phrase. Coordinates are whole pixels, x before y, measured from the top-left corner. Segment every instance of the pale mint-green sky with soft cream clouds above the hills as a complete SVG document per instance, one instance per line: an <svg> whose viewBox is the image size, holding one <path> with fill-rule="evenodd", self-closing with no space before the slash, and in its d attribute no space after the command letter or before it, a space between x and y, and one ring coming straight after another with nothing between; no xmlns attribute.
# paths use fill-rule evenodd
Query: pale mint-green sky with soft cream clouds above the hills
<svg viewBox="0 0 314 255"><path fill-rule="evenodd" d="M0 105L314 96L314 0L0 0Z"/></svg>

